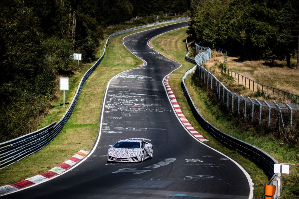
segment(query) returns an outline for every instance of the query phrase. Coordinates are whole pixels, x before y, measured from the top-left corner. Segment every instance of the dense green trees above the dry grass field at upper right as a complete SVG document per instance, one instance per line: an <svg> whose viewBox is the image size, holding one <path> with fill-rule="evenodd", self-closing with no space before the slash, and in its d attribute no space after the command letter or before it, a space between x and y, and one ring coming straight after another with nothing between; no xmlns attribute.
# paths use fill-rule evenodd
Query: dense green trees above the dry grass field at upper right
<svg viewBox="0 0 299 199"><path fill-rule="evenodd" d="M299 48L298 0L191 2L192 30L201 45L216 45L243 59L286 60L290 67Z"/></svg>

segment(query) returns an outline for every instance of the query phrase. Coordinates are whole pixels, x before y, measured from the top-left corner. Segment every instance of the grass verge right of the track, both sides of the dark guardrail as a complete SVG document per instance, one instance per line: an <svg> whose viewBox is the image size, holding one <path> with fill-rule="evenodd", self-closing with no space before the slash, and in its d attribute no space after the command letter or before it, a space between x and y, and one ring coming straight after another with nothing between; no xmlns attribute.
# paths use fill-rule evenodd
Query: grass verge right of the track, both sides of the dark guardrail
<svg viewBox="0 0 299 199"><path fill-rule="evenodd" d="M155 50L182 64L182 67L174 71L170 76L169 84L176 95L177 101L179 102L184 115L193 127L209 140L206 144L225 153L240 163L252 178L255 197L263 198L264 187L268 182L268 179L263 171L248 159L243 158L239 153L222 146L207 132L205 132L193 117L191 109L181 89L181 77L184 75L186 70L194 66L193 64L184 61L184 55L186 54L185 38L188 36L185 33L186 30L187 28L183 28L166 33L156 37L151 42ZM298 150L296 151L296 149L287 144L280 144L279 140L277 141L272 135L259 136L253 129L245 129L241 125L237 124L232 117L225 115L218 108L217 104L213 102L212 94L201 89L196 77L189 76L186 78L185 83L187 84L188 91L192 96L196 107L199 109L199 112L215 127L238 139L244 140L259 147L260 149L263 149L278 160L278 162L298 162ZM299 195L299 167L291 167L290 170L290 175L284 176L283 198L296 198Z"/></svg>

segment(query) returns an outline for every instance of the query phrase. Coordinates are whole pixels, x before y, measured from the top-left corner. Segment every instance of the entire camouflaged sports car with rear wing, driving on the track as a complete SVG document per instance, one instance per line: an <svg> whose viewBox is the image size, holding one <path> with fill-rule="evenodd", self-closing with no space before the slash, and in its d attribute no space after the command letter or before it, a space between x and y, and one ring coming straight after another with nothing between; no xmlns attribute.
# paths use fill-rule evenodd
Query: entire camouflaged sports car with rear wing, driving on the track
<svg viewBox="0 0 299 199"><path fill-rule="evenodd" d="M153 146L149 139L130 138L118 141L108 149L108 162L143 162L154 155Z"/></svg>

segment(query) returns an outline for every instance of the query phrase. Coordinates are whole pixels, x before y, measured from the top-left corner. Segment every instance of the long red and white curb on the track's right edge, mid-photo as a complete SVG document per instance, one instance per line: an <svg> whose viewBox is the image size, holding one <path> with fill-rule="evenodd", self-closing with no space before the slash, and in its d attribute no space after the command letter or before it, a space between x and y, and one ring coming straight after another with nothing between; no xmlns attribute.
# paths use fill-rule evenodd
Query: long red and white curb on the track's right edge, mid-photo
<svg viewBox="0 0 299 199"><path fill-rule="evenodd" d="M170 74L171 75L171 74ZM170 77L170 75L167 75L164 79L164 85L166 87L167 90L167 94L169 96L169 99L171 101L171 104L173 105L173 108L176 111L176 114L178 115L178 117L180 118L181 122L183 123L183 125L186 127L186 129L188 129L188 131L197 139L199 139L199 141L208 141L206 138L204 138L199 132L197 132L192 125L189 123L189 121L187 120L187 118L185 117L185 115L183 114L183 112L181 111L181 108L178 104L178 102L176 101L176 96L173 94L173 91L171 89L171 87L168 84L168 79Z"/></svg>

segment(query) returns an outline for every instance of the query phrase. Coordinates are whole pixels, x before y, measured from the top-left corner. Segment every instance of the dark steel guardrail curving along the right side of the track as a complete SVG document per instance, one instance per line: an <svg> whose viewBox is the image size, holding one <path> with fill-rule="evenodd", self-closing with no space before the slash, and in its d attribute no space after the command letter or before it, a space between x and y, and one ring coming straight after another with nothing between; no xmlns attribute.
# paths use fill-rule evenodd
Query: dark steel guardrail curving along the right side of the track
<svg viewBox="0 0 299 199"><path fill-rule="evenodd" d="M186 45L187 46L187 45ZM188 46L187 46L188 49ZM189 50L188 50L189 51ZM206 52L210 53L210 50L206 50ZM195 70L198 70L198 68L201 68L202 70L205 70L200 64L205 62L210 55L206 55L207 53L202 53L196 55L195 62L196 65L187 70L182 77L181 86L184 91L184 95L187 98L188 104L193 112L194 117L198 121L198 123L202 126L202 128L207 131L210 135L212 135L214 138L216 138L220 143L227 146L228 148L234 149L241 153L243 156L249 158L254 163L256 163L260 168L264 170L266 175L269 178L273 178L276 174L274 174L274 164L277 164L277 161L271 157L269 154L264 152L263 150L248 144L244 141L241 141L237 138L232 137L231 135L228 135L216 127L214 127L212 124L210 124L208 121L205 120L205 118L202 117L202 115L198 112L196 106L193 103L193 100L191 96L189 95L188 89L185 85L184 79L187 77L188 74L193 73ZM201 58L200 58L201 57ZM190 58L188 58L190 59ZM187 59L186 59L187 60ZM211 74L212 75L212 74ZM212 75L213 79L221 83L214 75Z"/></svg>

